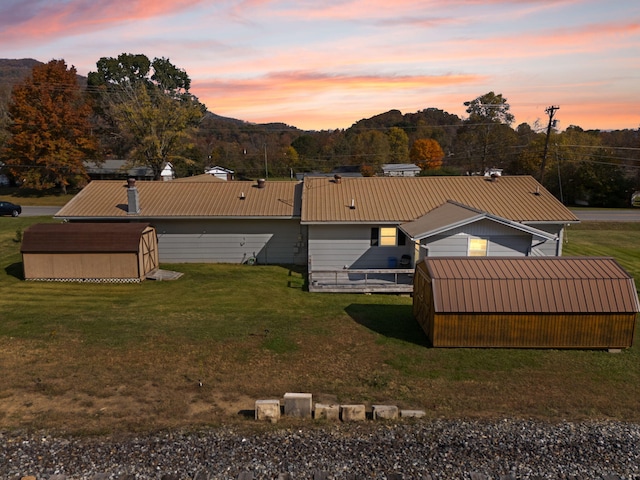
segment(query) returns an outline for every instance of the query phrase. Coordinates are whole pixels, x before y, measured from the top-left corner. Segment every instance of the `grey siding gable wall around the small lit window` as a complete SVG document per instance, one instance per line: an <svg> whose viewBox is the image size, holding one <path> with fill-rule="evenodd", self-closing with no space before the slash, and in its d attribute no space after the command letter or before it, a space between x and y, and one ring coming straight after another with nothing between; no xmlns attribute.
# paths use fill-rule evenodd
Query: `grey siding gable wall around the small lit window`
<svg viewBox="0 0 640 480"><path fill-rule="evenodd" d="M482 220L450 230L444 235L429 237L423 241L423 245L430 257L466 257L470 237L488 240L487 256L489 257L527 256L532 245L530 234L490 220ZM545 251L549 251L547 244L551 244L555 252L556 242L545 242Z"/></svg>

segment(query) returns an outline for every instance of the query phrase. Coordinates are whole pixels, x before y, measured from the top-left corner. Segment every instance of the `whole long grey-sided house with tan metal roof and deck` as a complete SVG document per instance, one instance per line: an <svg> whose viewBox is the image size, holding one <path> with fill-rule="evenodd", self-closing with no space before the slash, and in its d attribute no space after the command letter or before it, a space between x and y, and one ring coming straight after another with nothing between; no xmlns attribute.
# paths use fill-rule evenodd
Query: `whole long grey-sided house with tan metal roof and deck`
<svg viewBox="0 0 640 480"><path fill-rule="evenodd" d="M307 265L311 291L411 292L432 256L560 256L578 219L532 177L94 181L56 215L148 222L160 261Z"/></svg>

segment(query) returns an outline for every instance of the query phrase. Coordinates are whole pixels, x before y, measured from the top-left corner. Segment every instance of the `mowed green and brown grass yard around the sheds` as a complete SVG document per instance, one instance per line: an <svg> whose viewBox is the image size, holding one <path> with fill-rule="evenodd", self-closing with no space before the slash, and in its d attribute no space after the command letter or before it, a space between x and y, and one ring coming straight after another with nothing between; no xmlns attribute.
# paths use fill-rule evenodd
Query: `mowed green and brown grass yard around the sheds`
<svg viewBox="0 0 640 480"><path fill-rule="evenodd" d="M255 425L257 399L394 404L428 417L640 421L640 355L434 349L396 295L311 294L280 266L163 265L177 281L22 280L0 218L0 430ZM572 226L566 255L640 278L640 224Z"/></svg>

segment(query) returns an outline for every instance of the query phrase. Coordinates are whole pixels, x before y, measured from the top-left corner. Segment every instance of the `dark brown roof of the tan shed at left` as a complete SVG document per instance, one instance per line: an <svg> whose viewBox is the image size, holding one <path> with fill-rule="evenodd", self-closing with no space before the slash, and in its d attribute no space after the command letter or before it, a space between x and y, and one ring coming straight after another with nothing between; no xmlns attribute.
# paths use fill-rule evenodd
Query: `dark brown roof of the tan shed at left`
<svg viewBox="0 0 640 480"><path fill-rule="evenodd" d="M22 253L137 252L148 223L38 223L24 231Z"/></svg>

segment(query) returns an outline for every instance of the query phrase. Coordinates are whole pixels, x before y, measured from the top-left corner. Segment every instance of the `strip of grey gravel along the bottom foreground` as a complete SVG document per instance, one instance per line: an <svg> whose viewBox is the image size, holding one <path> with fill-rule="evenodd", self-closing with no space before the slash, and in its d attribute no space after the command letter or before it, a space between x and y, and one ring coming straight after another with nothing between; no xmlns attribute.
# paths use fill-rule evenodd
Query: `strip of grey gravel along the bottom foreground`
<svg viewBox="0 0 640 480"><path fill-rule="evenodd" d="M0 478L640 479L640 425L525 420L219 427L144 436L0 432Z"/></svg>

